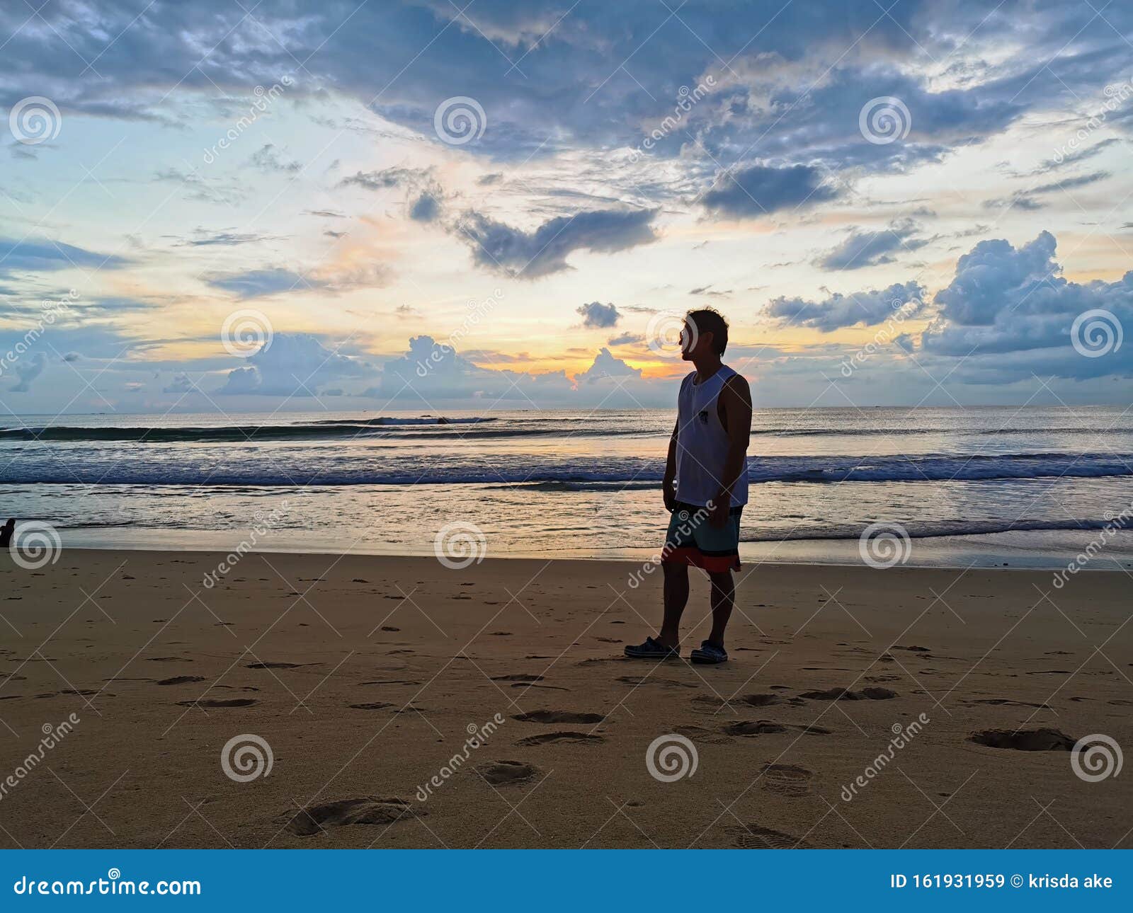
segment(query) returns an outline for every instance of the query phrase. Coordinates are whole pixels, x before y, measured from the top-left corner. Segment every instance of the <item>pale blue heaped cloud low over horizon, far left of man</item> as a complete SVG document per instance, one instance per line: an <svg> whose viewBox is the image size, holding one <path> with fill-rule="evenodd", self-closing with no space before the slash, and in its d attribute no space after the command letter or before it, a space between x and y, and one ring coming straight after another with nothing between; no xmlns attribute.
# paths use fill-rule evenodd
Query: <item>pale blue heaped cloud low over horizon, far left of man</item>
<svg viewBox="0 0 1133 913"><path fill-rule="evenodd" d="M327 349L308 333L275 333L247 362L229 372L218 394L313 396L332 381L376 374L368 362Z"/></svg>

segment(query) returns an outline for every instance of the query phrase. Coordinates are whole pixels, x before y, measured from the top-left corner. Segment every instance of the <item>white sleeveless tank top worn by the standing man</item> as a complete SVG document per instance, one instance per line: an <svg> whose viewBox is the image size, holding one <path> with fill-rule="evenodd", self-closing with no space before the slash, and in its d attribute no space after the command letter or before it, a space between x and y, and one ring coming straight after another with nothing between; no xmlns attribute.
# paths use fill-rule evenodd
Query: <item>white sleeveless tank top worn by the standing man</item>
<svg viewBox="0 0 1133 913"><path fill-rule="evenodd" d="M716 399L729 377L735 375L721 365L712 377L696 383L692 372L681 382L676 398L676 500L705 506L719 493L727 458L727 430L721 424ZM748 503L748 468L732 486L732 505Z"/></svg>

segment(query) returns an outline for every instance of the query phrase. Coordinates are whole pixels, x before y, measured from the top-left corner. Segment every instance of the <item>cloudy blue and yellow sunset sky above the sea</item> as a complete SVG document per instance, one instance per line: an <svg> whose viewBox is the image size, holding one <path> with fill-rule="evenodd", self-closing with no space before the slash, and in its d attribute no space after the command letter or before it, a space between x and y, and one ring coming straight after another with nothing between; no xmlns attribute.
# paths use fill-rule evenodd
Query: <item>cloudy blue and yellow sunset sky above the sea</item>
<svg viewBox="0 0 1133 913"><path fill-rule="evenodd" d="M1130 401L1128 3L14 0L0 42L8 421L671 407L706 306L757 406Z"/></svg>

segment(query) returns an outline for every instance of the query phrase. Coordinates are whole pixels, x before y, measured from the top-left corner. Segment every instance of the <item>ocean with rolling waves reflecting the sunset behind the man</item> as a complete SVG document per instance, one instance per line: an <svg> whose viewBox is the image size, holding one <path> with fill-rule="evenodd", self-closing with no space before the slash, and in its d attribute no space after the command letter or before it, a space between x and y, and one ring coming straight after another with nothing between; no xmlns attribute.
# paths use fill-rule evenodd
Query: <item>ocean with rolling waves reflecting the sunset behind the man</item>
<svg viewBox="0 0 1133 913"><path fill-rule="evenodd" d="M674 412L23 416L0 423L0 514L63 546L645 558ZM1117 407L759 409L744 561L1133 566L1133 413ZM1115 527L1118 529L1115 530Z"/></svg>

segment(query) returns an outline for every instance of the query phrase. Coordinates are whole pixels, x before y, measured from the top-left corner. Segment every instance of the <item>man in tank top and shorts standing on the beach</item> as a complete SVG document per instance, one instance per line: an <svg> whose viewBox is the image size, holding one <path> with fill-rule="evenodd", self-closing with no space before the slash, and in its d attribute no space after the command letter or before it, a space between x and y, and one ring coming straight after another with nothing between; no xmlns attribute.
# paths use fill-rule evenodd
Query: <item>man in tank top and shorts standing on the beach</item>
<svg viewBox="0 0 1133 913"><path fill-rule="evenodd" d="M692 565L704 569L712 581L712 632L689 658L727 660L724 629L734 601L732 571L740 568L740 513L748 503L751 390L721 362L726 348L727 322L721 314L706 308L685 315L681 358L696 370L681 382L662 483L665 507L672 512L661 553L665 617L656 638L625 648L629 657L680 657L679 628Z"/></svg>

